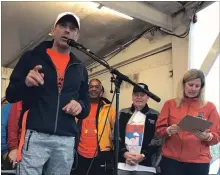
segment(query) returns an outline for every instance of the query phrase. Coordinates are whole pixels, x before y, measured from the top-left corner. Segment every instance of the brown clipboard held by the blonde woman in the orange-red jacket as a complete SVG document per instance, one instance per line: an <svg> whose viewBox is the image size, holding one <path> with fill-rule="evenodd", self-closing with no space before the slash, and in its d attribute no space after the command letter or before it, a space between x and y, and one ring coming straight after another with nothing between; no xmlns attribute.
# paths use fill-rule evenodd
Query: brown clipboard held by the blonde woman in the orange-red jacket
<svg viewBox="0 0 220 175"><path fill-rule="evenodd" d="M178 124L178 126L185 131L192 132L194 130L199 130L204 132L213 125L212 122L204 120L198 117L193 117L186 115Z"/></svg>

